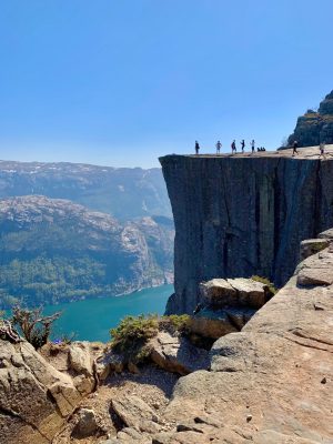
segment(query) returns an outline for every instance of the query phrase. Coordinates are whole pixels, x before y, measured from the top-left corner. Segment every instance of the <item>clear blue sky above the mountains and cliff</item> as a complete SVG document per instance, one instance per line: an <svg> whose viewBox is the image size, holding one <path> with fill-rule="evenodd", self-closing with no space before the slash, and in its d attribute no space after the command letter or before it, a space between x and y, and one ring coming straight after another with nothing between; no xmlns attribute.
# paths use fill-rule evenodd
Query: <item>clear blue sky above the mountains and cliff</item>
<svg viewBox="0 0 333 444"><path fill-rule="evenodd" d="M275 148L333 89L332 0L0 0L0 159Z"/></svg>

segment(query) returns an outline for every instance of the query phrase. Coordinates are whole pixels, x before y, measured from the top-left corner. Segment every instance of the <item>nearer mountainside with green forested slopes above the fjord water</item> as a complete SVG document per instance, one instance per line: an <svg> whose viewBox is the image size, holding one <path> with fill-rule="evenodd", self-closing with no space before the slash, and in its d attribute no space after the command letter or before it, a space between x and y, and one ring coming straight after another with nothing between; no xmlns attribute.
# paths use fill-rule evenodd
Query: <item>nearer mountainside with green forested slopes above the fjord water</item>
<svg viewBox="0 0 333 444"><path fill-rule="evenodd" d="M173 223L120 223L68 200L0 200L0 307L115 295L172 282Z"/></svg>

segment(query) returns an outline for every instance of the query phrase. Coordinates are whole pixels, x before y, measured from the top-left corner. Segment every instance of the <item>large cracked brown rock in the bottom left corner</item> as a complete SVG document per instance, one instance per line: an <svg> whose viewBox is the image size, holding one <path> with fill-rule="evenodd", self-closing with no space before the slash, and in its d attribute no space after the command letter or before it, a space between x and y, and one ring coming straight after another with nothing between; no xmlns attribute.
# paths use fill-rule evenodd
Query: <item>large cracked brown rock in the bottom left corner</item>
<svg viewBox="0 0 333 444"><path fill-rule="evenodd" d="M29 343L0 340L1 443L50 443L81 398L71 377Z"/></svg>

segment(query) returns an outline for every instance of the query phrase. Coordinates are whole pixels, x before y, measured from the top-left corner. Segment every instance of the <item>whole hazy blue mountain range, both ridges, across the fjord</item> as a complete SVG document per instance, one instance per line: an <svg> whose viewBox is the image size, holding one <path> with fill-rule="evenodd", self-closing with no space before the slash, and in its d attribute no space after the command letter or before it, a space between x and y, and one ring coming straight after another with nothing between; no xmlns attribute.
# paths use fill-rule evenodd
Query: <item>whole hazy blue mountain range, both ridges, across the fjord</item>
<svg viewBox="0 0 333 444"><path fill-rule="evenodd" d="M0 196L2 307L172 282L174 229L159 169L2 161Z"/></svg>

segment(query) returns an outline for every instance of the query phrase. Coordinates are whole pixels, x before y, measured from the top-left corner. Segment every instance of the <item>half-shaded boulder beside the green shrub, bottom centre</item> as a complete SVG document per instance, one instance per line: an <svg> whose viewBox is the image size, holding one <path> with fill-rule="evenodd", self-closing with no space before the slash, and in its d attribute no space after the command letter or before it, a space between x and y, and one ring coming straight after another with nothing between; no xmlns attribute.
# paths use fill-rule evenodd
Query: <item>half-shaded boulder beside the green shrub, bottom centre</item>
<svg viewBox="0 0 333 444"><path fill-rule="evenodd" d="M185 375L201 369L209 369L209 353L193 345L186 337L159 332L149 342L152 361L161 369Z"/></svg>

